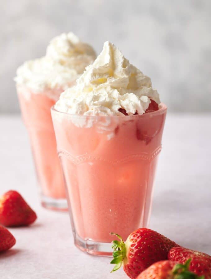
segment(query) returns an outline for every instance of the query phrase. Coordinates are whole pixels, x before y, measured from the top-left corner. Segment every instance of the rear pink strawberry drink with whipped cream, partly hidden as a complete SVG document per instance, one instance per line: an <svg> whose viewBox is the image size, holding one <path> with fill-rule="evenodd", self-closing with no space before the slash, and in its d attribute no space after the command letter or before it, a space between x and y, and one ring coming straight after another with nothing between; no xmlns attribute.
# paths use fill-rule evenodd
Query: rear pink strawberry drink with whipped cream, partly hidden
<svg viewBox="0 0 211 279"><path fill-rule="evenodd" d="M15 78L22 118L29 132L44 207L65 210L67 201L50 108L73 86L95 51L73 33L52 39L42 58L25 62Z"/></svg>

